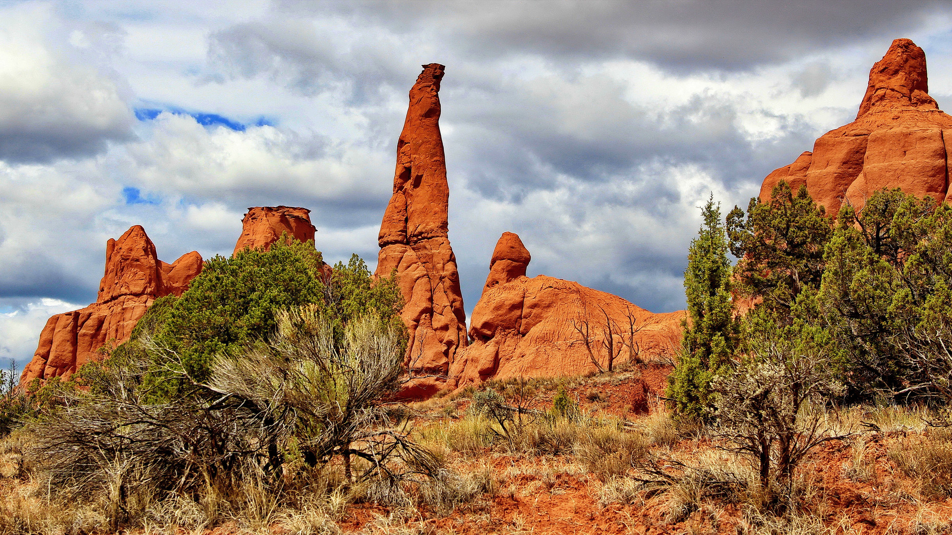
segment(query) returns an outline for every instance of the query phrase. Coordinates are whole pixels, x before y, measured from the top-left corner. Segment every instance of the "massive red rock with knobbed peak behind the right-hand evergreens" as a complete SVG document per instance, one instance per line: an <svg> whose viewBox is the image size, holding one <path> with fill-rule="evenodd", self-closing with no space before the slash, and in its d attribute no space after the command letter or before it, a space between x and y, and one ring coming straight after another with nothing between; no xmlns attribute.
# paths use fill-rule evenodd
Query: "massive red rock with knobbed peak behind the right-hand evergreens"
<svg viewBox="0 0 952 535"><path fill-rule="evenodd" d="M771 172L761 199L786 180L807 191L830 215L844 202L863 208L877 189L902 188L917 196L945 200L952 116L928 95L925 53L897 39L869 71L869 84L856 120L817 139L786 167Z"/></svg>

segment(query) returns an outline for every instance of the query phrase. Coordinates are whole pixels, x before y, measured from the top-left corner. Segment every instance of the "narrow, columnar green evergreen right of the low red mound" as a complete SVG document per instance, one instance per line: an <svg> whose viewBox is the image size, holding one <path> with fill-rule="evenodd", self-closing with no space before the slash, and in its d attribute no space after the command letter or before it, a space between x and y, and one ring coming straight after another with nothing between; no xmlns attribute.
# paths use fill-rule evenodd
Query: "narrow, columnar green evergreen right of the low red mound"
<svg viewBox="0 0 952 535"><path fill-rule="evenodd" d="M731 298L731 266L721 207L714 196L702 209L704 224L691 242L684 271L687 320L678 365L668 378L668 397L679 418L701 418L711 379L724 371L738 344Z"/></svg>

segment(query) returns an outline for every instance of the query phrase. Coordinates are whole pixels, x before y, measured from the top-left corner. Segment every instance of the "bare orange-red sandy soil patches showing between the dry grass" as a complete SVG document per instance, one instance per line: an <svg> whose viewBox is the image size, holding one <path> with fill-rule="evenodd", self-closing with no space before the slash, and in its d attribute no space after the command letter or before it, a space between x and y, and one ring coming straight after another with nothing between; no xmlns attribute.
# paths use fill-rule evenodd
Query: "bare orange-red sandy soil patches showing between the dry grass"
<svg viewBox="0 0 952 535"><path fill-rule="evenodd" d="M643 368L645 382L651 393L656 394L651 403L652 410L663 410L657 394L664 391L667 371L665 367ZM581 401L586 410L601 410L616 416L636 418L630 412L635 385L633 377L600 381L597 384L583 381L581 385L569 388L569 392ZM553 392L545 392L536 396L531 405L551 406L553 397ZM901 440L903 434L892 432L864 436L862 464L872 467L868 479L850 475L850 468L857 463L851 446L843 442L820 446L800 468L802 485L811 488L807 502L812 505L808 505L806 514L821 519L831 533L925 535L952 532L952 499L920 496L919 482L904 476L889 459L888 445ZM673 450L691 453L694 450L711 449L705 442L685 440L674 446ZM598 491L603 482L593 474L578 477L557 474L554 478L540 478L526 473L513 478L505 476L510 466L527 467L531 471L532 465L571 463L571 458L526 459L487 451L483 460L460 463L456 468L478 469L480 463L486 463L486 460L491 461L497 477L504 481L495 496L462 506L447 517L429 517L423 512L422 518L407 521L404 528L409 528L409 532L426 534L743 535L759 531L744 520L741 510L743 505L707 501L683 522L668 524L665 522L668 505L664 495L642 498L630 505L600 506ZM345 532L385 533L387 529L379 526L379 521L387 513L384 507L351 505L347 519L340 525ZM938 531L926 529L925 525L934 525Z"/></svg>

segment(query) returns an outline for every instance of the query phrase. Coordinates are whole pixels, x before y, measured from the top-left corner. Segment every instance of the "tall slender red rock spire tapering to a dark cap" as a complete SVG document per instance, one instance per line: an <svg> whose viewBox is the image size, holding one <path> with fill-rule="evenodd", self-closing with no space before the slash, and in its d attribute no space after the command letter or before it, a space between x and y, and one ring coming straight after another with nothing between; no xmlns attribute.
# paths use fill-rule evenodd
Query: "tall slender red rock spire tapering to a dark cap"
<svg viewBox="0 0 952 535"><path fill-rule="evenodd" d="M444 66L423 66L409 92L404 129L397 142L393 196L380 226L375 276L396 270L409 330L407 366L414 375L446 376L457 350L466 346L466 312L456 257L447 238L449 186L440 135L440 80ZM438 378L413 381L406 396L435 391Z"/></svg>

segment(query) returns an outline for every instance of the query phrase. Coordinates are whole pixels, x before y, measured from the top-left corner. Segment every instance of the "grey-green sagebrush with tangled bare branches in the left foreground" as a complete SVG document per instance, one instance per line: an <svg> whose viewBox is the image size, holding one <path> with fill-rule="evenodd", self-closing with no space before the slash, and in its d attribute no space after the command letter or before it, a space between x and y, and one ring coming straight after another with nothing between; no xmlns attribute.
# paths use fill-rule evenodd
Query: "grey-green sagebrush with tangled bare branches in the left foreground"
<svg viewBox="0 0 952 535"><path fill-rule="evenodd" d="M382 406L398 386L405 331L367 314L338 336L327 315L318 306L277 313L269 342L219 353L207 383L188 376L174 349L144 339L144 352L89 367L89 387L25 426L25 457L54 501L95 511L111 530L160 522L156 511L199 511L188 513L196 529L229 516L268 525L307 495L340 488L399 506L443 507L477 492ZM188 381L190 395L157 402L143 380L156 365Z"/></svg>

